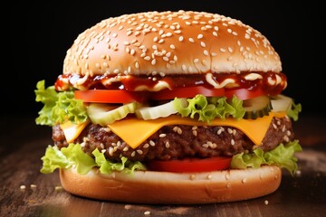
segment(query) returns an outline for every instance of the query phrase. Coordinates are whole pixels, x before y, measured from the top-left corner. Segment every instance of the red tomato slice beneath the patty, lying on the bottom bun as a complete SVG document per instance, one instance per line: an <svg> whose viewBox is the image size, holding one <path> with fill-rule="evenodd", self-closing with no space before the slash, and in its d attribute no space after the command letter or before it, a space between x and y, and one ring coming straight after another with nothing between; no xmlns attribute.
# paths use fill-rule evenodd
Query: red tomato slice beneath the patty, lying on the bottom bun
<svg viewBox="0 0 326 217"><path fill-rule="evenodd" d="M190 157L182 160L152 160L148 163L149 170L174 173L209 172L230 168L232 157L214 156L210 158Z"/></svg>

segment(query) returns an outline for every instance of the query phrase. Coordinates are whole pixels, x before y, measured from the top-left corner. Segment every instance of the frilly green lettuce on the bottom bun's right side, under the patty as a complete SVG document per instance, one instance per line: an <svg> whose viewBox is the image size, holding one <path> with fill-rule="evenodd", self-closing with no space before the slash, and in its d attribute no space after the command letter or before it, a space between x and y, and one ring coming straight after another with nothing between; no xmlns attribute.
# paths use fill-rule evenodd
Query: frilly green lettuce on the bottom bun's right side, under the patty
<svg viewBox="0 0 326 217"><path fill-rule="evenodd" d="M233 156L231 168L245 169L247 167L258 168L261 165L278 165L294 175L298 169L298 159L294 154L301 151L302 146L299 145L298 140L289 142L286 145L280 144L268 152L257 148L253 153L241 153Z"/></svg>

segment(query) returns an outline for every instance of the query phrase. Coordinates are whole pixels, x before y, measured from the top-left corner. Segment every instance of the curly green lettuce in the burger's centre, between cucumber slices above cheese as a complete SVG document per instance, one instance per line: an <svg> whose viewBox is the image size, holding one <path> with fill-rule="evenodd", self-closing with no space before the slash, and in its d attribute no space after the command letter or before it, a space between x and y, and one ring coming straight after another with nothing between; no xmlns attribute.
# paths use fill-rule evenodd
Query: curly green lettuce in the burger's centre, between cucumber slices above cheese
<svg viewBox="0 0 326 217"><path fill-rule="evenodd" d="M225 119L231 116L240 119L245 115L243 101L235 96L231 100L226 100L225 97L208 98L198 94L195 98L187 99L187 102L185 105L181 99L174 99L174 107L182 117L209 122L215 118Z"/></svg>

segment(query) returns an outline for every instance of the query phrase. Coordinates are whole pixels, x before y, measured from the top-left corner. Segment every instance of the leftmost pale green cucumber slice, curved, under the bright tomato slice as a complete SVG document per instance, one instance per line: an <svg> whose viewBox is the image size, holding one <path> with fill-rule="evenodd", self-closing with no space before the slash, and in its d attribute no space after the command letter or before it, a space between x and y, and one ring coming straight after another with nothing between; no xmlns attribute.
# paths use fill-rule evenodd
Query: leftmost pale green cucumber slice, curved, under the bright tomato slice
<svg viewBox="0 0 326 217"><path fill-rule="evenodd" d="M126 118L129 113L135 113L139 103L130 102L120 107L113 107L108 104L91 103L87 108L87 115L91 122L105 127L116 120Z"/></svg>

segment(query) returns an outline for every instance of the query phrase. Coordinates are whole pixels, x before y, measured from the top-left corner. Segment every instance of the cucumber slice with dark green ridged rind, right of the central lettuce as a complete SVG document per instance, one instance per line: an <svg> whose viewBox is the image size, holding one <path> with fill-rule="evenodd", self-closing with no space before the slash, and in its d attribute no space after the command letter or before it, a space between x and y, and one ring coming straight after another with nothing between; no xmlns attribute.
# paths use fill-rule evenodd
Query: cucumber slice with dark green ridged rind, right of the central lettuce
<svg viewBox="0 0 326 217"><path fill-rule="evenodd" d="M272 110L271 99L267 96L246 99L243 107L245 109L245 119L261 118L268 115Z"/></svg>

